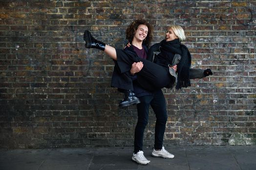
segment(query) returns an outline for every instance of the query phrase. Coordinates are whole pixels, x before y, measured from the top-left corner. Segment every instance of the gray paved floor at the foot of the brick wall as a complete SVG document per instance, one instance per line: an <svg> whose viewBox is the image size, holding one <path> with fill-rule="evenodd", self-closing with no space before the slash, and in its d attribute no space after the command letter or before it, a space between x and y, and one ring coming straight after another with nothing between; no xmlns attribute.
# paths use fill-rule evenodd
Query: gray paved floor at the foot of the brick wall
<svg viewBox="0 0 256 170"><path fill-rule="evenodd" d="M0 149L0 170L256 170L256 146L166 147L174 159L131 161L133 148Z"/></svg>

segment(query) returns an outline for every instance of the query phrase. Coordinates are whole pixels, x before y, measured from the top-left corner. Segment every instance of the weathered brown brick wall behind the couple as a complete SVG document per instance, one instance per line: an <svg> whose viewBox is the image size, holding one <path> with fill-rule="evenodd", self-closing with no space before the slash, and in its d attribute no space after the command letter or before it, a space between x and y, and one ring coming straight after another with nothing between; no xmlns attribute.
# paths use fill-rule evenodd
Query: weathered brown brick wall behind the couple
<svg viewBox="0 0 256 170"><path fill-rule="evenodd" d="M0 148L132 146L136 107L118 107L113 62L83 33L123 48L135 18L153 43L181 25L192 67L214 72L163 89L165 146L255 145L256 0L0 0ZM151 110L146 146L154 121Z"/></svg>

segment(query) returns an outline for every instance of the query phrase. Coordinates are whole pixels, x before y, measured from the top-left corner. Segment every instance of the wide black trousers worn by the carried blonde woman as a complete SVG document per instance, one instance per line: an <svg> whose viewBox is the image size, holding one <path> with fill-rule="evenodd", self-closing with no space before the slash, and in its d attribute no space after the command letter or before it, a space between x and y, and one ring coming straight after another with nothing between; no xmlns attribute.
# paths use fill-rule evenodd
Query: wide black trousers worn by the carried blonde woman
<svg viewBox="0 0 256 170"><path fill-rule="evenodd" d="M157 65L149 60L130 55L123 50L116 49L117 61L112 74L111 86L133 90L130 68L134 62L143 62L143 68L136 73L138 83L146 90L154 91L175 82L175 77L169 73L169 68Z"/></svg>

